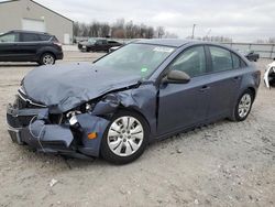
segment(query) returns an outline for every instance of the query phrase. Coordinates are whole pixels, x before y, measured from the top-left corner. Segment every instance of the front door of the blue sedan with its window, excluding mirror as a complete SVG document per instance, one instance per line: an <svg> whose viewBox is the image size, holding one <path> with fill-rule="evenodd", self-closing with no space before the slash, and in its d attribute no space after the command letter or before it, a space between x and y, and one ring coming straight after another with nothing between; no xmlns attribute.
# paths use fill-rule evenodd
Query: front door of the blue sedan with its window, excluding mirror
<svg viewBox="0 0 275 207"><path fill-rule="evenodd" d="M162 84L158 101L158 135L187 129L206 120L209 83L204 46L185 50L168 69L190 76L187 84Z"/></svg>

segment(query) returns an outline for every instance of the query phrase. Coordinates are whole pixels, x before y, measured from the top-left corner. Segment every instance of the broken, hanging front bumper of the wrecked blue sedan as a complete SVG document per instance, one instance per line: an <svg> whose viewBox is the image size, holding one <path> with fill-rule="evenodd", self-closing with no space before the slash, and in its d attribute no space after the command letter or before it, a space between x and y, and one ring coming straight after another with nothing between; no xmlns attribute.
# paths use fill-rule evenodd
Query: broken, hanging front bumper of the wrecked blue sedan
<svg viewBox="0 0 275 207"><path fill-rule="evenodd" d="M89 113L77 115L76 119L77 128L69 122L51 123L47 108L18 109L9 105L7 109L8 132L13 142L45 153L98 156L109 121ZM96 139L89 139L92 132Z"/></svg>

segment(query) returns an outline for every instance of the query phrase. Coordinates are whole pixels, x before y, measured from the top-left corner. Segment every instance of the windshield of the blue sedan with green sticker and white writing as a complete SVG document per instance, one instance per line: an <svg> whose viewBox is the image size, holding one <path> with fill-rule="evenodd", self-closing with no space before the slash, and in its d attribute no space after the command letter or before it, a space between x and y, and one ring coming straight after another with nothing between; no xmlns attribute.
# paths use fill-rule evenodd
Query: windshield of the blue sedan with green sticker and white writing
<svg viewBox="0 0 275 207"><path fill-rule="evenodd" d="M125 76L146 78L174 51L174 47L168 46L129 44L97 61L95 65L118 70Z"/></svg>

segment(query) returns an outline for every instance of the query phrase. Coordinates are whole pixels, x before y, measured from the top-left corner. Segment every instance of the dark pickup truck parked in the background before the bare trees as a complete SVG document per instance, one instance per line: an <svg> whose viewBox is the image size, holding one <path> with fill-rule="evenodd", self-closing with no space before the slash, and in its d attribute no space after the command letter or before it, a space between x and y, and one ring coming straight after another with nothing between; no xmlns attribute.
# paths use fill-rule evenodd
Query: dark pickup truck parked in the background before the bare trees
<svg viewBox="0 0 275 207"><path fill-rule="evenodd" d="M89 39L88 41L79 42L78 48L85 52L109 52L113 46L121 46L122 44L107 39Z"/></svg>

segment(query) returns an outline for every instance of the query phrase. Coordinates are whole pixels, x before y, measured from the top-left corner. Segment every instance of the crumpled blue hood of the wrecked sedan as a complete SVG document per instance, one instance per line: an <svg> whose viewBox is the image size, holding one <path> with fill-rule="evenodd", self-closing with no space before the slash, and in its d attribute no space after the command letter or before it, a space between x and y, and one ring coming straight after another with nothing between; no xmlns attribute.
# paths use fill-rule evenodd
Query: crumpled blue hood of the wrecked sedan
<svg viewBox="0 0 275 207"><path fill-rule="evenodd" d="M75 63L37 67L24 77L23 87L33 101L46 105L52 112L64 112L139 80L120 70Z"/></svg>

